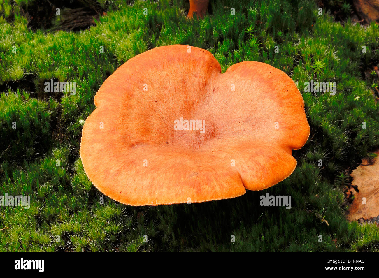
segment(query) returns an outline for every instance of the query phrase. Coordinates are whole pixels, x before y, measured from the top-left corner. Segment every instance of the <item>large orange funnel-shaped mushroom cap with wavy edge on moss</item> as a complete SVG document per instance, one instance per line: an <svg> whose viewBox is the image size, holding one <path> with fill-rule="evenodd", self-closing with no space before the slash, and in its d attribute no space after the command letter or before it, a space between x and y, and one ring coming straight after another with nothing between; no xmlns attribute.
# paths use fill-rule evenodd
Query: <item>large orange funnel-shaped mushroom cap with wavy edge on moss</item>
<svg viewBox="0 0 379 278"><path fill-rule="evenodd" d="M81 137L85 172L103 194L133 206L266 189L293 172L291 151L310 133L284 72L246 61L221 73L210 52L187 45L129 59L94 103Z"/></svg>

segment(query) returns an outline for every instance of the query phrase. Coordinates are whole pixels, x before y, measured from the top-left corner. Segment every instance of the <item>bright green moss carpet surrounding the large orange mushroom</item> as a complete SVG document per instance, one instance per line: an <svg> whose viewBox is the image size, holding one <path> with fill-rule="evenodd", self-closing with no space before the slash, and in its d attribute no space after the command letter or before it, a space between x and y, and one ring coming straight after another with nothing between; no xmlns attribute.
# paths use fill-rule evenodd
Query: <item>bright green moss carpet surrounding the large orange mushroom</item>
<svg viewBox="0 0 379 278"><path fill-rule="evenodd" d="M341 251L378 249L374 225L345 220L343 194L345 170L379 145L378 80L365 75L379 62L378 24L341 24L305 0L213 1L210 15L187 20L186 1L163 0L117 4L80 32L33 31L6 16L9 3L0 3L0 195L30 195L31 205L0 209L1 251L335 251L335 238ZM222 71L260 61L293 78L311 134L289 178L230 200L158 207L125 206L92 185L78 150L96 91L128 59L171 44L206 48ZM76 82L76 94L44 92L50 79ZM336 94L305 92L311 79L336 82ZM260 206L266 193L291 195L292 208Z"/></svg>

